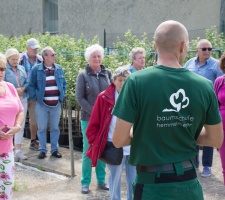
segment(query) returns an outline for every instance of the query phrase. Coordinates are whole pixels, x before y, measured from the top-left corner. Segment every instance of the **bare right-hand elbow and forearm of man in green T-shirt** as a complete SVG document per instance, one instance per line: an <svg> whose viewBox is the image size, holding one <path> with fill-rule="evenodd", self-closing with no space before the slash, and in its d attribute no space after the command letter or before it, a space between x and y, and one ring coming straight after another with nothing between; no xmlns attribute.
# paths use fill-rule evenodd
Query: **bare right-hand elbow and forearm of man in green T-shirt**
<svg viewBox="0 0 225 200"><path fill-rule="evenodd" d="M204 125L198 139L197 144L201 146L211 146L219 148L223 143L223 127L222 123L216 125Z"/></svg>

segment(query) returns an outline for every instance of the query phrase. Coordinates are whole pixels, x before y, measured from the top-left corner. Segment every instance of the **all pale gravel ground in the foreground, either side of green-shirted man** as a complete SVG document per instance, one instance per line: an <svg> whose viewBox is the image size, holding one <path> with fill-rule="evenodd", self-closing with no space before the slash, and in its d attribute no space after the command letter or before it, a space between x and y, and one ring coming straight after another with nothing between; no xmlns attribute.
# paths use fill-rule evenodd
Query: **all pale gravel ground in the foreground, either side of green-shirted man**
<svg viewBox="0 0 225 200"><path fill-rule="evenodd" d="M214 152L217 154L218 152ZM212 176L202 178L202 168L198 171L205 200L222 200L224 185L218 155L214 157ZM80 169L79 169L80 171ZM107 172L108 176L108 172ZM13 200L108 200L109 192L99 190L95 184L94 171L90 185L91 192L87 195L80 192L80 173L74 178L68 178L54 173L43 172L36 168L16 163L15 192ZM122 177L122 199L126 199L125 175Z"/></svg>

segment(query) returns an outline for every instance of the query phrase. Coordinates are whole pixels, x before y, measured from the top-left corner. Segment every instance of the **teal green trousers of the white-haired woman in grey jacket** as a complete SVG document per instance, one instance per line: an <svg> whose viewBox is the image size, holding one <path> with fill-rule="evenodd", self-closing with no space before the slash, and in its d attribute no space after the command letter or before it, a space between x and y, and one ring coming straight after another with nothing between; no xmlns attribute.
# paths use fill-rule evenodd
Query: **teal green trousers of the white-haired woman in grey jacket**
<svg viewBox="0 0 225 200"><path fill-rule="evenodd" d="M83 135L83 153L82 153L82 175L81 175L81 185L90 185L91 183L91 159L86 156L89 144L86 136L86 130L88 126L88 121L81 120L81 131ZM95 167L95 173L97 177L97 184L105 183L105 171L106 164L100 160L98 160L97 165Z"/></svg>

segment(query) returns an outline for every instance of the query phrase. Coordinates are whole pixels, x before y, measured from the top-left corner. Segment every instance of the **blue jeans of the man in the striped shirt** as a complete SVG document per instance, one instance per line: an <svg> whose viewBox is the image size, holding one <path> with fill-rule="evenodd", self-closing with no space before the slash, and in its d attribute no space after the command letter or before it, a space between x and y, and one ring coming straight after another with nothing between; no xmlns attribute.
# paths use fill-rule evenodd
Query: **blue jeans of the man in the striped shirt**
<svg viewBox="0 0 225 200"><path fill-rule="evenodd" d="M47 153L46 143L49 120L51 153L57 151L60 135L59 120L61 115L61 103L58 103L55 107L49 107L44 103L37 102L35 107L35 115L38 125L37 135L40 142L39 150L41 152Z"/></svg>

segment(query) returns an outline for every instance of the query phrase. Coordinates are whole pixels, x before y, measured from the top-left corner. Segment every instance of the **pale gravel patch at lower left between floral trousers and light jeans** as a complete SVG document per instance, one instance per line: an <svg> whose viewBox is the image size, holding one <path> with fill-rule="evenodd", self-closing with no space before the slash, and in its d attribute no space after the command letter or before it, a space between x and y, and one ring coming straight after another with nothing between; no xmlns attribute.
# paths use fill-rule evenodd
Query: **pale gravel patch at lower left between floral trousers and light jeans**
<svg viewBox="0 0 225 200"><path fill-rule="evenodd" d="M80 177L67 178L54 173L16 163L15 192L13 200L108 200L109 192L100 191L95 185L91 192L80 192ZM125 199L125 198L124 198Z"/></svg>

